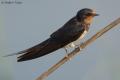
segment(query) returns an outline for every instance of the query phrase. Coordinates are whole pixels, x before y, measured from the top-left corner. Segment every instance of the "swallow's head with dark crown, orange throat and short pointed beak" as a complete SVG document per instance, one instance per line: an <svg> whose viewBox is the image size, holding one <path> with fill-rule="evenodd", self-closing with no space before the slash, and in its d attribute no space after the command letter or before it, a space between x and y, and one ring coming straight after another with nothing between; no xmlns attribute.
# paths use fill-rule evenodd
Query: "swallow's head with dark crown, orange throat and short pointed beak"
<svg viewBox="0 0 120 80"><path fill-rule="evenodd" d="M96 14L96 12L89 8L84 8L78 11L76 17L77 20L80 22L85 22L87 24L90 24L95 16L98 16L99 14Z"/></svg>

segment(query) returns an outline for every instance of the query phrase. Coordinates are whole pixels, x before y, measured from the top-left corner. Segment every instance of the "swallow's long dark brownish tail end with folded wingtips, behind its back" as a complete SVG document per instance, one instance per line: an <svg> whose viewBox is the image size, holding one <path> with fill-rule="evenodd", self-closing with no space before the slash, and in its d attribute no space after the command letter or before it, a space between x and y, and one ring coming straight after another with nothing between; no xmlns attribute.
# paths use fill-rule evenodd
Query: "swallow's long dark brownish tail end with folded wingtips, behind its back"
<svg viewBox="0 0 120 80"><path fill-rule="evenodd" d="M25 53L25 54L18 57L18 62L31 60L31 59L35 59L35 58L47 55L61 47L63 47L63 45L58 44L55 41L51 41L51 39L47 39L46 41L30 49L27 49L26 51L23 51L22 53Z"/></svg>

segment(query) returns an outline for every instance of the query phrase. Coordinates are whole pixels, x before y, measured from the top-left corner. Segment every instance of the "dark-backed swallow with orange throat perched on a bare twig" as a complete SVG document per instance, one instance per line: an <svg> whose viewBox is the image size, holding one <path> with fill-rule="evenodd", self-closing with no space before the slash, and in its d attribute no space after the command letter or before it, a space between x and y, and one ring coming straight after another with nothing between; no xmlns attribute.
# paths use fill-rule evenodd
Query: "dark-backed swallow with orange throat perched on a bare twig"
<svg viewBox="0 0 120 80"><path fill-rule="evenodd" d="M67 46L75 47L74 41L85 36L93 18L98 15L93 9L83 8L45 41L8 56L19 55L17 61L22 62L45 56L61 48L66 50Z"/></svg>

